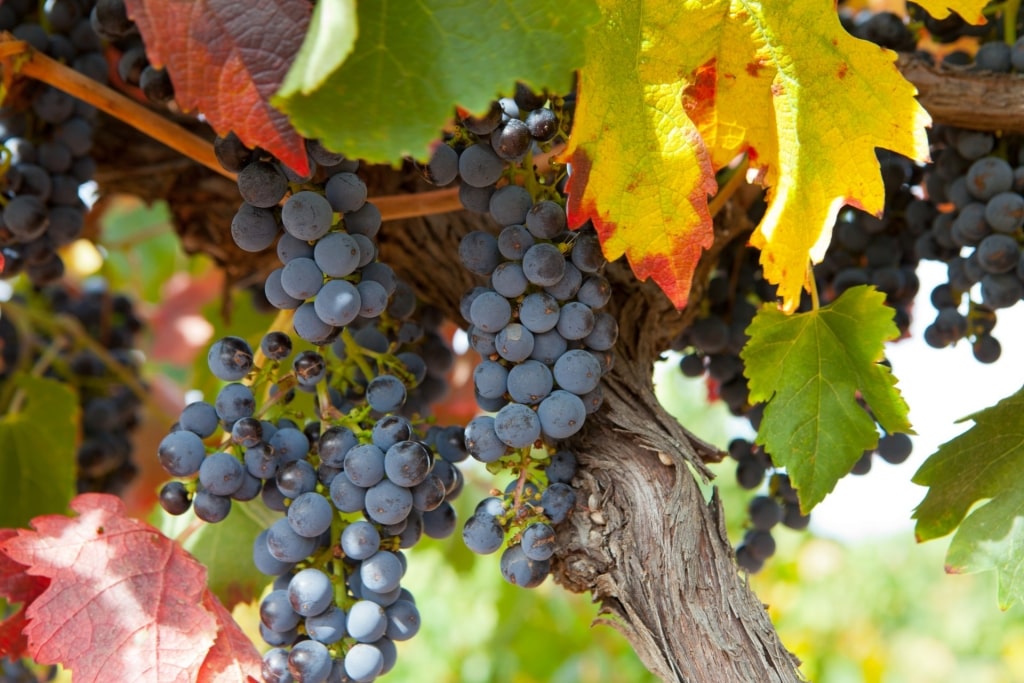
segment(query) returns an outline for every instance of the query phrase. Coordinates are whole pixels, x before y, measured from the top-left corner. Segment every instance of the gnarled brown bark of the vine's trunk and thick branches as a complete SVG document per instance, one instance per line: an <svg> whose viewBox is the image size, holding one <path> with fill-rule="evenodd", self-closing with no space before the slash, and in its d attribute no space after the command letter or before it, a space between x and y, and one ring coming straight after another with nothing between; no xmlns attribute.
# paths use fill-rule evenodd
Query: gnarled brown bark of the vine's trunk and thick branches
<svg viewBox="0 0 1024 683"><path fill-rule="evenodd" d="M982 76L931 67L903 55L899 68L920 90L935 123L1024 132L1019 76ZM275 262L270 253L240 252L230 241L238 207L233 185L115 121L100 127L96 156L105 193L164 199L185 250L223 264L234 284L259 282ZM425 188L410 169L369 169L372 195ZM698 266L691 296L718 252L745 240L752 225L742 202L716 219L715 246ZM474 284L458 263L459 239L497 229L489 218L456 212L393 221L382 230L382 259L430 303L459 321L459 299ZM568 445L581 464L578 505L560 531L556 581L590 592L600 622L618 629L657 676L674 682L801 680L764 605L737 571L721 502L697 485L714 447L666 413L654 397L652 364L692 321L697 303L675 310L651 283L638 283L622 262L609 266L615 287L610 311L620 323L615 364L603 380L605 404ZM699 429L699 425L691 425Z"/></svg>

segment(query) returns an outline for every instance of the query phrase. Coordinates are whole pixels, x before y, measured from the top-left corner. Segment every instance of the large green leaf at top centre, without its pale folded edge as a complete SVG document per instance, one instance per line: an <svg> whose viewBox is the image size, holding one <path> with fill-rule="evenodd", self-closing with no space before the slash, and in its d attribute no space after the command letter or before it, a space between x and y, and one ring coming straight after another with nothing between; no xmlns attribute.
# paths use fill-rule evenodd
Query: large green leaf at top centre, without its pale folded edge
<svg viewBox="0 0 1024 683"><path fill-rule="evenodd" d="M306 137L373 163L425 159L459 104L483 112L517 80L565 92L593 0L360 2L355 49L314 92L273 104Z"/></svg>

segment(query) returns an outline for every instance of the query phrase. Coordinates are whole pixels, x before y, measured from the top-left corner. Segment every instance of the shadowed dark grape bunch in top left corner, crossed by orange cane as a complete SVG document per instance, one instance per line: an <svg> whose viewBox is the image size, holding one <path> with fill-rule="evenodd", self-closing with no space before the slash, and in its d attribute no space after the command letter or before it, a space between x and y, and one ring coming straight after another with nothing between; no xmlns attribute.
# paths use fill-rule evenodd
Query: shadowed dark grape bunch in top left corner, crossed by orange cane
<svg viewBox="0 0 1024 683"><path fill-rule="evenodd" d="M102 42L89 22L92 0L13 0L0 5L0 31L105 83ZM92 180L95 110L49 85L15 81L0 110L0 276L25 272L35 285L65 271L57 249L82 232L81 186Z"/></svg>

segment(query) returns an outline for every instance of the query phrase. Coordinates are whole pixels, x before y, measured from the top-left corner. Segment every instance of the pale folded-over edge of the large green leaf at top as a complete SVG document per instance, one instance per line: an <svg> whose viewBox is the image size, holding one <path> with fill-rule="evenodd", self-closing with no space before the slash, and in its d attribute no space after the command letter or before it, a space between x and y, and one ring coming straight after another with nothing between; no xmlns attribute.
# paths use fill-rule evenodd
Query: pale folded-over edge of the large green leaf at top
<svg viewBox="0 0 1024 683"><path fill-rule="evenodd" d="M302 47L285 77L281 95L308 95L323 85L355 47L355 0L319 0Z"/></svg>

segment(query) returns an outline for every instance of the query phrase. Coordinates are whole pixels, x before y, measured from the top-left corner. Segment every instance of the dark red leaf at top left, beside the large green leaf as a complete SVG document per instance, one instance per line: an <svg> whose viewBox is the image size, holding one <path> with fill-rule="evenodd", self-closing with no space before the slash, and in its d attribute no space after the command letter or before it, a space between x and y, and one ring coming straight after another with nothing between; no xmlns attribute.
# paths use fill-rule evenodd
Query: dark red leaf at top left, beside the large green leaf
<svg viewBox="0 0 1024 683"><path fill-rule="evenodd" d="M309 171L302 137L270 106L302 45L307 0L126 0L156 66L174 83L174 98L199 110L223 135L233 130L292 167Z"/></svg>

